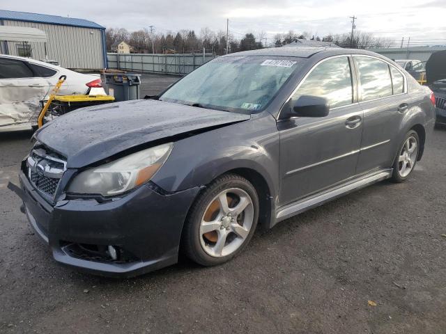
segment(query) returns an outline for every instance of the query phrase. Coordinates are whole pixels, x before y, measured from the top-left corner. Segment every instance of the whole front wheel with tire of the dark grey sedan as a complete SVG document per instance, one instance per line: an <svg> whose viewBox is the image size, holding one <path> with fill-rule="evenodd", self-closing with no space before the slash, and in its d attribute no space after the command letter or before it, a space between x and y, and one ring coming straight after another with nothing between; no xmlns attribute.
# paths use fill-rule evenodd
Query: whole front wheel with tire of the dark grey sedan
<svg viewBox="0 0 446 334"><path fill-rule="evenodd" d="M245 248L258 219L254 186L240 175L222 175L192 205L183 230L183 251L203 266L222 264Z"/></svg>

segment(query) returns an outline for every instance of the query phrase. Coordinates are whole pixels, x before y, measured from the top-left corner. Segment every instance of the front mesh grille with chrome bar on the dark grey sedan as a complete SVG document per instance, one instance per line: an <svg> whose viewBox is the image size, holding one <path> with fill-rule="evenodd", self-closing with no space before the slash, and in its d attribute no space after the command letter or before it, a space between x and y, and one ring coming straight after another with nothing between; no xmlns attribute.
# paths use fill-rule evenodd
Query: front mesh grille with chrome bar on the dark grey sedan
<svg viewBox="0 0 446 334"><path fill-rule="evenodd" d="M54 152L36 147L27 159L28 178L34 188L48 200L54 200L57 187L66 169L66 161Z"/></svg>

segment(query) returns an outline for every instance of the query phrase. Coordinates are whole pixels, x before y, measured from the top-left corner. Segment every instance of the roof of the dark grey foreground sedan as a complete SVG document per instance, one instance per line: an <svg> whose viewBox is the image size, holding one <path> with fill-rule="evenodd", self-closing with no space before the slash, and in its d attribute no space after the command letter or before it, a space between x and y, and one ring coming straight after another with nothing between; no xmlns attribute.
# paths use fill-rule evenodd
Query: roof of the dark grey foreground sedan
<svg viewBox="0 0 446 334"><path fill-rule="evenodd" d="M338 54L368 54L370 56L380 56L371 51L361 49L342 49L340 47L272 47L269 49L257 49L249 51L241 51L233 54L226 54L224 57L230 56L279 56L279 57L299 57L309 58L315 54L323 56L336 56ZM380 56L383 58L383 56Z"/></svg>

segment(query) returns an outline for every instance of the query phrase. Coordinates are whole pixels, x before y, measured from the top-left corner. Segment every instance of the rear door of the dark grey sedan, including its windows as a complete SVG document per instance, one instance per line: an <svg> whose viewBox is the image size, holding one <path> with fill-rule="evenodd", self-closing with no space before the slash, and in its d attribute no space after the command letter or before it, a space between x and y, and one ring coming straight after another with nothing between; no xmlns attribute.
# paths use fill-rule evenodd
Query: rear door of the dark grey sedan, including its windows
<svg viewBox="0 0 446 334"><path fill-rule="evenodd" d="M354 56L364 129L357 173L390 168L403 118L410 108L406 77L397 67L373 56Z"/></svg>

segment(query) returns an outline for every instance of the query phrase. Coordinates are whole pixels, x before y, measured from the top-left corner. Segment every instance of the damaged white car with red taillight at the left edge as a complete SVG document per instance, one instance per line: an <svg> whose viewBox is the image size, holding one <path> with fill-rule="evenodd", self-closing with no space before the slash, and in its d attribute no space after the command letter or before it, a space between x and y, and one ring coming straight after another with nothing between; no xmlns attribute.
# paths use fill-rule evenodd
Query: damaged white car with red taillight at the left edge
<svg viewBox="0 0 446 334"><path fill-rule="evenodd" d="M99 74L82 74L30 58L0 55L0 132L31 129L40 101L47 100L59 77L58 95L106 95Z"/></svg>

